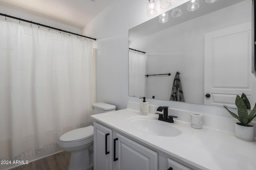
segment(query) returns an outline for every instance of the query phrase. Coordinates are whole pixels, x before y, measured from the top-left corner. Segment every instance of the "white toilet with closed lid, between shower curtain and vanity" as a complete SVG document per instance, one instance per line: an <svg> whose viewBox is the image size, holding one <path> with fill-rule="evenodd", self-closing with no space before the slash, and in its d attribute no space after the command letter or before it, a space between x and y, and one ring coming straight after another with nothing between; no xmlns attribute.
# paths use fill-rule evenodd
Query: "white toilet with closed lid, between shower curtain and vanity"
<svg viewBox="0 0 256 170"><path fill-rule="evenodd" d="M92 114L115 111L116 106L106 103L92 104ZM68 170L87 170L93 166L93 126L74 129L60 137L62 150L71 152Z"/></svg>

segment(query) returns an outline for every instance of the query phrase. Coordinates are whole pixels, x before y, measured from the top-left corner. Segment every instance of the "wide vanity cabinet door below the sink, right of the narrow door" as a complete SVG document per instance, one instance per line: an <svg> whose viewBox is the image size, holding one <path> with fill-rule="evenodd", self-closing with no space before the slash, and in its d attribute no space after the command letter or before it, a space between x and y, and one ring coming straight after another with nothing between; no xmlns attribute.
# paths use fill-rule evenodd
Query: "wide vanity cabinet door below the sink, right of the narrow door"
<svg viewBox="0 0 256 170"><path fill-rule="evenodd" d="M158 153L150 150L118 133L116 143L115 170L157 170Z"/></svg>

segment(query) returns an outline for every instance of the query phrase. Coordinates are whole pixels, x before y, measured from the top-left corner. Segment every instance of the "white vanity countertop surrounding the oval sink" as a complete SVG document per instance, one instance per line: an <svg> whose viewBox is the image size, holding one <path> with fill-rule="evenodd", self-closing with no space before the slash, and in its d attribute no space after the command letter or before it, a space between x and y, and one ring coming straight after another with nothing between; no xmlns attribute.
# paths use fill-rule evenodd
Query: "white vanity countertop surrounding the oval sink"
<svg viewBox="0 0 256 170"><path fill-rule="evenodd" d="M139 111L122 109L92 115L91 117L200 169L256 170L256 141L242 141L232 133L217 129L206 127L193 129L189 123L178 120L174 121L187 125L193 133L176 137L156 136L139 131L127 122L128 119L139 116L142 116ZM149 116L158 118L158 115L154 114Z"/></svg>

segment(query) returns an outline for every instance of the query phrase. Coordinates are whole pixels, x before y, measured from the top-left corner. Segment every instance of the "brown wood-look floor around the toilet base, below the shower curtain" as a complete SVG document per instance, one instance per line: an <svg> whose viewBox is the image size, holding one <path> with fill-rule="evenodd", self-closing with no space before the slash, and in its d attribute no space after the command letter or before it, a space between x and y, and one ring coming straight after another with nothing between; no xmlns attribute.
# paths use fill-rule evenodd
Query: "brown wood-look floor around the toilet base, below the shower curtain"
<svg viewBox="0 0 256 170"><path fill-rule="evenodd" d="M70 152L63 151L10 170L68 170L69 158Z"/></svg>

